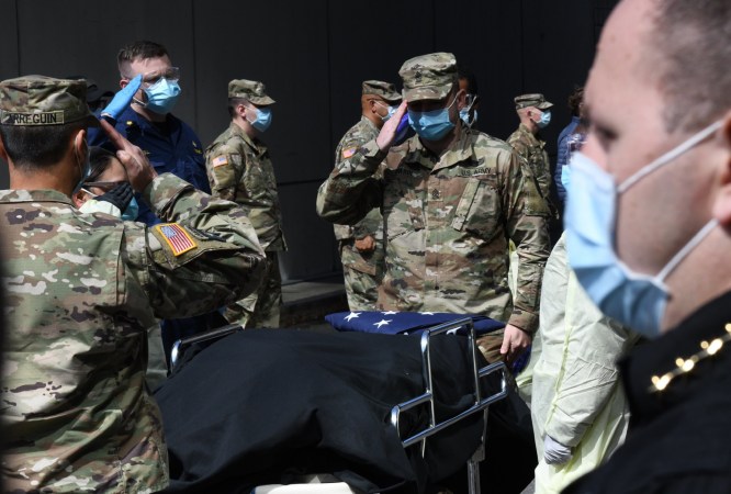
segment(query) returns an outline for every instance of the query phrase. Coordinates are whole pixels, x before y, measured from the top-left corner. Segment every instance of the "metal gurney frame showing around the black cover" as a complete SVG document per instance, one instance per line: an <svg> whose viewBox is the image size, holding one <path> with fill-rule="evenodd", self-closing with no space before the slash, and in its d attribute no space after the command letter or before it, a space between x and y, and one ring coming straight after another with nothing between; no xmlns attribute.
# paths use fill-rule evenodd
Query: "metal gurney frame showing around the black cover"
<svg viewBox="0 0 731 494"><path fill-rule="evenodd" d="M466 333L466 345L463 345L464 351L464 372L459 378L459 380L464 380L469 382L470 388L470 401L471 403L459 404L453 413L449 416L443 416L443 414L438 413L438 390L436 385L436 380L438 375L435 374L435 358L439 360L441 356L435 353L434 350L437 341L440 341L439 338L453 338L451 336L442 336L446 333L454 332L456 329L463 329ZM179 364L181 356L185 355L187 351L196 346L196 345L207 345L212 340L220 340L222 338L229 337L233 334L240 332L240 326L232 325L225 326L207 334L198 335L194 337L185 338L183 340L177 341L173 346L172 362L173 366ZM286 329L283 332L291 332L292 329ZM247 329L246 332L240 332L241 334L250 334L250 332L257 332L256 329ZM271 330L263 330L265 333ZM355 336L353 336L355 337ZM405 338L405 337L394 337L385 336L385 338ZM414 337L409 337L414 338ZM496 362L493 364L483 366L484 360L479 356L476 350L475 333L474 326L470 318L457 319L449 323L439 324L435 327L424 330L419 338L419 352L420 352L420 383L421 389L417 390L418 392L409 395L408 398L395 403L391 406L390 409L390 420L389 427L391 433L398 438L398 441L405 450L409 452L413 457L420 457L425 464L428 462L427 457L431 453L431 441L435 442L435 447L439 448L440 433L446 429L460 430L460 424L470 422L469 427L465 426L464 430L469 431L472 436L471 440L464 441L463 438L459 440L459 444L468 444L468 447L471 447L472 450L466 452L466 471L468 471L468 485L470 493L480 493L480 470L479 462L484 458L484 445L485 445L485 420L488 407L491 404L503 400L506 394L506 369L503 362ZM357 339L356 339L357 340ZM453 356L452 356L453 358ZM442 359L443 360L443 359ZM440 366L443 362L439 362ZM442 366L443 367L443 366ZM454 366L457 370L458 366ZM441 368L437 368L439 370ZM451 366L450 366L451 369ZM443 369L442 369L443 370ZM438 374L438 372L437 372ZM491 378L492 377L492 378ZM487 386L485 385L486 379L492 379L497 383L497 386L493 386L488 392L486 392ZM466 405L466 406L464 406ZM165 406L162 407L165 412ZM426 416L426 424L424 424L418 429L413 428L414 414ZM479 417L480 420L476 420L479 424L475 427L475 417ZM167 422L167 418L166 418ZM167 424L166 424L167 425ZM460 433L458 433L460 434ZM166 435L168 430L166 428ZM443 436L443 434L442 434ZM476 436L476 437L474 437ZM475 447L476 446L476 447ZM175 460L172 460L175 461ZM299 481L305 482L322 482L323 480L336 480L336 482L327 484L302 484L297 483ZM171 491L177 492L177 491ZM190 492L190 491L187 491ZM203 491L200 491L203 492ZM221 492L221 491L218 491ZM232 491L234 492L234 491ZM236 491L239 492L239 491ZM305 493L305 492L344 492L344 493L362 493L357 487L349 485L346 482L341 482L338 479L334 479L329 473L325 472L319 474L312 474L311 472L303 475L292 475L291 479L284 483L268 483L259 484L251 489L252 493L271 493L271 494L285 494L285 493ZM378 491L369 491L378 492Z"/></svg>

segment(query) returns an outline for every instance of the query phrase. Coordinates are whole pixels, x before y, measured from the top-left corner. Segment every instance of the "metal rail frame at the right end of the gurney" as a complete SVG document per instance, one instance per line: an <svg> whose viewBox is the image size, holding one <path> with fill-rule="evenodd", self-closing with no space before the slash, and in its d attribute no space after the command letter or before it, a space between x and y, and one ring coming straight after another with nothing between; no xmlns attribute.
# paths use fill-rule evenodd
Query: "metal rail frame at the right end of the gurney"
<svg viewBox="0 0 731 494"><path fill-rule="evenodd" d="M457 415L446 418L442 422L437 424L435 405L434 405L434 386L431 379L431 337L441 335L447 332L457 330L461 327L464 327L468 332L469 344L466 346L468 357L472 362L472 379L474 385L474 403L468 409L458 413ZM448 323L442 323L438 326L435 326L431 329L427 329L421 334L420 339L421 347L421 375L424 378L424 393L420 395L402 402L395 405L391 409L391 425L396 428L396 434L398 438L402 439L404 448L413 446L417 442L421 442L421 456L426 451L426 440L429 436L432 436L440 430L457 424L461 419L474 414L482 412L486 416L487 407L495 403L498 400L503 400L507 396L507 378L506 378L506 367L504 362L495 362L483 368L477 368L477 349L476 337L474 330L474 324L470 317L464 317L461 319L456 319ZM501 372L501 389L495 394L490 396L482 396L480 390L480 380L484 377L492 374L493 372ZM429 411L429 426L424 430L420 430L414 434L406 439L401 438L400 423L401 423L401 413L411 408L414 408L419 405L428 404ZM484 458L484 437L482 445L477 448L477 451L470 458L468 461L468 481L469 481L469 492L470 494L480 494L480 469L477 463Z"/></svg>

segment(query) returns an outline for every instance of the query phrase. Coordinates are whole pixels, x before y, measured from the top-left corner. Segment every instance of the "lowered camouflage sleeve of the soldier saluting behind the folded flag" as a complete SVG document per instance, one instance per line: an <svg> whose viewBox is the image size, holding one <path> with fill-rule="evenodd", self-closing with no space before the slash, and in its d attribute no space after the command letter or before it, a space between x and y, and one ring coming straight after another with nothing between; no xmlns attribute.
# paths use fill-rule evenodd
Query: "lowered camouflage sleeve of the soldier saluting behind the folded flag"
<svg viewBox="0 0 731 494"><path fill-rule="evenodd" d="M538 329L543 268L549 251L547 218L549 210L529 170L520 166L515 153L501 155L503 207L508 237L518 254L516 294L509 324L533 334Z"/></svg>

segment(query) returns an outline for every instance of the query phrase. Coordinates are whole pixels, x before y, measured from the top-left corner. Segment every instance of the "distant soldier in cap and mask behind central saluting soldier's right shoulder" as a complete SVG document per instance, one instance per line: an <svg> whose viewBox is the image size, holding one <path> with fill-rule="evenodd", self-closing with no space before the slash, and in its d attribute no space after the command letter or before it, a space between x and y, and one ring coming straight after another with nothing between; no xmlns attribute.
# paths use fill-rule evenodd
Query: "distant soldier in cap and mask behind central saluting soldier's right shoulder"
<svg viewBox="0 0 731 494"><path fill-rule="evenodd" d="M551 207L551 162L546 151L546 141L541 139L539 131L551 121L548 111L553 103L546 101L543 94L521 94L515 98L515 109L520 119L518 130L507 139L524 164L530 167L538 182L541 195Z"/></svg>

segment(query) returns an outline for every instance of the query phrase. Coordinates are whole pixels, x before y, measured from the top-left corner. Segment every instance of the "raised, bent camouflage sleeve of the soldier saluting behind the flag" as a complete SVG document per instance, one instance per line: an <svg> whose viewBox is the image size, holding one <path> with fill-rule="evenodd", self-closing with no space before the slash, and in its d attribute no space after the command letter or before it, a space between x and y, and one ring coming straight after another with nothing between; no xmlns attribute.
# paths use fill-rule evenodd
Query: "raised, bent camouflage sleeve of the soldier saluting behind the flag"
<svg viewBox="0 0 731 494"><path fill-rule="evenodd" d="M385 156L373 139L340 161L319 186L317 214L328 222L353 225L380 206L383 189L374 173Z"/></svg>

